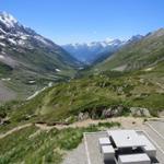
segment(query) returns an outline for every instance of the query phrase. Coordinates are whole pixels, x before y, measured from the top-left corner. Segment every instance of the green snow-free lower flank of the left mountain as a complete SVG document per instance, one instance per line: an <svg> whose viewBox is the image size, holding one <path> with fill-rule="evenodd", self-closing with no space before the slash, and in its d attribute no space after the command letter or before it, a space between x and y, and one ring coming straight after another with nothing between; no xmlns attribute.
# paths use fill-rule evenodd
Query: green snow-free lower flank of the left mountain
<svg viewBox="0 0 164 164"><path fill-rule="evenodd" d="M49 82L68 80L77 72L78 65L71 58L67 60L69 55L62 50L49 52L38 47L33 50L5 48L7 54L12 55L16 66L0 62L0 80L10 79L3 81L3 84L15 92L17 95L15 98L25 98L48 85ZM34 83L31 84L30 81Z"/></svg>

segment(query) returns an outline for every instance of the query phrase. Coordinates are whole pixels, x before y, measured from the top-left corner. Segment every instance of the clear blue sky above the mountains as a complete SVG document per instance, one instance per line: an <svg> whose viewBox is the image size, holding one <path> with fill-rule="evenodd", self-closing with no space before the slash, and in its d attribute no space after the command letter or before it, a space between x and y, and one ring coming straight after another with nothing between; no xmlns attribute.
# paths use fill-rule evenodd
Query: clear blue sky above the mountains
<svg viewBox="0 0 164 164"><path fill-rule="evenodd" d="M0 0L0 11L57 44L125 39L164 26L164 0Z"/></svg>

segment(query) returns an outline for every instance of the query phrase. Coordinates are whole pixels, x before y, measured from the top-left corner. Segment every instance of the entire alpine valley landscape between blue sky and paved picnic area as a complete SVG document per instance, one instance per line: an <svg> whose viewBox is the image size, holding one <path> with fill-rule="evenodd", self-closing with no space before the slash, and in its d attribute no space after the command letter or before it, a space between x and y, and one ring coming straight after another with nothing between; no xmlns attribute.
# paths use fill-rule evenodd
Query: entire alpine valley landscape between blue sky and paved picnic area
<svg viewBox="0 0 164 164"><path fill-rule="evenodd" d="M73 163L83 132L164 117L164 28L59 46L2 12L0 102L0 164Z"/></svg>

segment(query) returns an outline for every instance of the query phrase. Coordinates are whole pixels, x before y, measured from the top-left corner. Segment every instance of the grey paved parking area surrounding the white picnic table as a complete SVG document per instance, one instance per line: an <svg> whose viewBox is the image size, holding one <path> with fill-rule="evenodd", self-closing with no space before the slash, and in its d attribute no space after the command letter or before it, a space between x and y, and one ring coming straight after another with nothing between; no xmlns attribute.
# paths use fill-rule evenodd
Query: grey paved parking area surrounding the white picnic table
<svg viewBox="0 0 164 164"><path fill-rule="evenodd" d="M136 129L145 132L156 147L159 163L164 164L164 121L149 121ZM107 137L107 132L84 133L83 143L70 153L63 164L104 164L98 148L98 138L101 137Z"/></svg>

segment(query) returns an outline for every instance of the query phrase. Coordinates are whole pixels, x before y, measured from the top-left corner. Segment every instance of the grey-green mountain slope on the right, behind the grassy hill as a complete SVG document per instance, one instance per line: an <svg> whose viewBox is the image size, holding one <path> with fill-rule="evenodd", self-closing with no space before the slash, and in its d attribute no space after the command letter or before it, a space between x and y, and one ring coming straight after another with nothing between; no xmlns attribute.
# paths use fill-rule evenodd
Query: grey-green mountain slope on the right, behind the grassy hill
<svg viewBox="0 0 164 164"><path fill-rule="evenodd" d="M152 67L164 60L164 28L129 42L106 60L93 66L92 70L129 71Z"/></svg>

